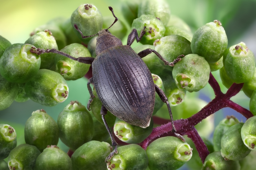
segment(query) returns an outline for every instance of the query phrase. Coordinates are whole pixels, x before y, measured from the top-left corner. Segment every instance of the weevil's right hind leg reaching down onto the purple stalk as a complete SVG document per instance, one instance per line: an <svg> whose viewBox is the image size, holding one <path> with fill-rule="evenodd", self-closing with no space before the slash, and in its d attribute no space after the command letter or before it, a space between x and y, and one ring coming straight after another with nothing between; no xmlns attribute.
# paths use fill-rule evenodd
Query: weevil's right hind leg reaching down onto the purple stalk
<svg viewBox="0 0 256 170"><path fill-rule="evenodd" d="M180 134L176 133L177 131L176 131L176 128L175 128L174 123L173 123L172 111L171 111L168 99L167 99L166 95L164 94L164 91L160 87L158 87L157 85L155 85L155 90L156 90L156 93L158 94L158 96L161 98L161 100L164 103L166 103L166 105L167 105L167 108L168 108L168 111L169 111L169 115L170 115L170 118L171 118L171 122L172 122L172 127L173 127L172 132L173 132L174 136L177 137L177 138L180 138L182 141L185 142L184 137L181 136Z"/></svg>

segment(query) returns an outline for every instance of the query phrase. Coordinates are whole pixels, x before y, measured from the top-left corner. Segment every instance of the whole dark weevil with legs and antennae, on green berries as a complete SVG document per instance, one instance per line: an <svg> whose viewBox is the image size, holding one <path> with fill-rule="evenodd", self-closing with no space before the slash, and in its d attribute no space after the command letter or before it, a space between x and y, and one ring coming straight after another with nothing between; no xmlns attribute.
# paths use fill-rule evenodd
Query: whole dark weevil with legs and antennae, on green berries
<svg viewBox="0 0 256 170"><path fill-rule="evenodd" d="M109 7L109 10L115 17L114 24L118 21L118 18L115 16L112 7ZM110 25L110 27L112 27L112 25ZM172 111L166 95L161 88L154 84L152 75L142 60L143 57L153 52L165 65L174 66L180 58L177 58L173 62L168 62L159 53L150 48L138 54L135 53L131 48L131 44L135 39L137 42L141 40L145 34L144 30L146 27L141 31L140 36L138 36L137 30L133 29L128 36L127 45L123 45L120 39L116 38L108 31L110 27L90 36L84 36L76 24L74 24L74 27L80 32L82 38L98 35L95 49L97 56L95 58L75 58L56 49L30 49L30 52L37 53L38 55L50 52L56 53L72 60L92 65L92 77L87 83L87 88L90 93L87 109L90 110L90 104L95 97L90 86L90 84L93 83L96 93L102 102L100 111L102 120L109 132L112 145L115 146L114 151L110 153L105 162L110 160L114 153L118 153L118 143L115 141L104 117L107 111L110 111L113 115L129 124L146 128L149 126L153 114L155 92L168 107L173 134L185 141L181 135L176 133Z"/></svg>

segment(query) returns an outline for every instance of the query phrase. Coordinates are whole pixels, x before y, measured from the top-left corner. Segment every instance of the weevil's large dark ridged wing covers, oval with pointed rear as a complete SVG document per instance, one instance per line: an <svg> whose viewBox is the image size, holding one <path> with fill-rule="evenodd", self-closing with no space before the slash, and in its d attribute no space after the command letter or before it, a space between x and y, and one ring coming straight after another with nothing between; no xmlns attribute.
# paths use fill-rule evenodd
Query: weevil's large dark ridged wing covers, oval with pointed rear
<svg viewBox="0 0 256 170"><path fill-rule="evenodd" d="M92 63L95 90L102 104L121 120L146 128L155 104L152 75L128 46L104 50Z"/></svg>

